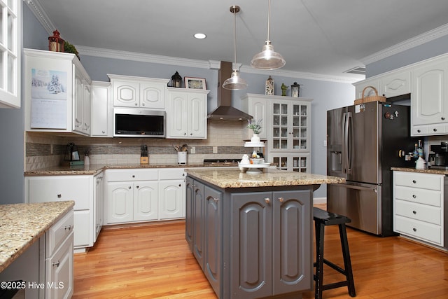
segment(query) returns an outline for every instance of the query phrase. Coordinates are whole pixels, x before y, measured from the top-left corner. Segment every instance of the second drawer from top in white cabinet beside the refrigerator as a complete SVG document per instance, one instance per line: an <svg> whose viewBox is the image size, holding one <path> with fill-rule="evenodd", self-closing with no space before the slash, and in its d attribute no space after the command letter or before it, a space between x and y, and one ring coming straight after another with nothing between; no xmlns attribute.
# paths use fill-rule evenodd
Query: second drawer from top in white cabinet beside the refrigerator
<svg viewBox="0 0 448 299"><path fill-rule="evenodd" d="M442 192L427 189L395 186L394 198L408 202L429 204L434 207L441 207L442 204Z"/></svg>

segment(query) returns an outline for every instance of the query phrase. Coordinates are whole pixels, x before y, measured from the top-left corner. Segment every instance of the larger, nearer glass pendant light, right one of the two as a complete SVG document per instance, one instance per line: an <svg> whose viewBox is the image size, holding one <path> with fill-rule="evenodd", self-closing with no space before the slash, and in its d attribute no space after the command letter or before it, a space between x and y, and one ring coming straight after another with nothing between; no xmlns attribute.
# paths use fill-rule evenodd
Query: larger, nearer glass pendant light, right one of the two
<svg viewBox="0 0 448 299"><path fill-rule="evenodd" d="M267 8L267 41L263 46L262 51L253 56L251 66L255 69L280 69L285 65L283 56L274 51L274 47L269 40L269 25L271 19L271 0L268 2Z"/></svg>

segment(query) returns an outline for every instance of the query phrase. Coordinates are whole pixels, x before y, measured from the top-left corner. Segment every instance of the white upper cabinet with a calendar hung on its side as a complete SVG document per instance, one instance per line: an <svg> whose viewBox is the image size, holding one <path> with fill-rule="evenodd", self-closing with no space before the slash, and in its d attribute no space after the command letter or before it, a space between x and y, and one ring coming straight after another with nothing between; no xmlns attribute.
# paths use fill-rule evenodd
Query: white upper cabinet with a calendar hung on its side
<svg viewBox="0 0 448 299"><path fill-rule="evenodd" d="M69 53L24 49L25 130L90 136L90 77Z"/></svg>

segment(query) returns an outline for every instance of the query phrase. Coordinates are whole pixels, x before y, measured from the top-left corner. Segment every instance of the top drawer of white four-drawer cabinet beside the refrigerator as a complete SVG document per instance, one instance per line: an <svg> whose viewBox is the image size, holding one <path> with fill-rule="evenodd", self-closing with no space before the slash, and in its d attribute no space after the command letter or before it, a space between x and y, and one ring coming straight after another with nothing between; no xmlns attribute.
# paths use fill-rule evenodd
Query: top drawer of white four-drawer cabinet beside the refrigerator
<svg viewBox="0 0 448 299"><path fill-rule="evenodd" d="M416 172L395 172L395 185L423 188L430 190L442 190L442 175L421 174Z"/></svg>

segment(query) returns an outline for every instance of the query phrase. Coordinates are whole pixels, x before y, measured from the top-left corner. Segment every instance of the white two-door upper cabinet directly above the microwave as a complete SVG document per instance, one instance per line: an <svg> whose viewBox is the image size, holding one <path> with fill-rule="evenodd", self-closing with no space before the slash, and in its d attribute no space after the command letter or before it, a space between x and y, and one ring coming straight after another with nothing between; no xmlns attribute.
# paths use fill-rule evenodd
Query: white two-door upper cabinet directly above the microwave
<svg viewBox="0 0 448 299"><path fill-rule="evenodd" d="M165 109L169 79L108 74L113 90L113 106Z"/></svg>

